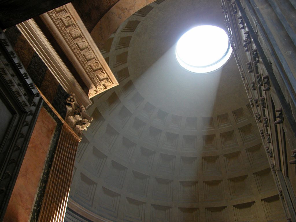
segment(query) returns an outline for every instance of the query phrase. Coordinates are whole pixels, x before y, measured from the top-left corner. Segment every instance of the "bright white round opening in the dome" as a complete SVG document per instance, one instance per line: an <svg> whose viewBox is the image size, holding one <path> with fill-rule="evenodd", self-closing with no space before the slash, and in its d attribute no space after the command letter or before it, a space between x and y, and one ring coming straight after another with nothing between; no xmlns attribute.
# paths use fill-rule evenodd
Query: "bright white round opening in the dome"
<svg viewBox="0 0 296 222"><path fill-rule="evenodd" d="M212 72L224 65L232 49L226 32L217 26L201 25L190 29L179 39L176 58L194 73Z"/></svg>

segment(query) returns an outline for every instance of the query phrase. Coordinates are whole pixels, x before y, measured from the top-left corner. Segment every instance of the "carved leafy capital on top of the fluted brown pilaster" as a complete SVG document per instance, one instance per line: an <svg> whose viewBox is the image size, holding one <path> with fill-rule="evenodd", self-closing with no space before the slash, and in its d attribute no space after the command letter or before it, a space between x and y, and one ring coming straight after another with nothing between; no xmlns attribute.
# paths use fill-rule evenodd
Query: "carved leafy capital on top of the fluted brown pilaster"
<svg viewBox="0 0 296 222"><path fill-rule="evenodd" d="M73 131L81 138L83 130L91 125L92 117L90 117L85 110L85 107L79 106L75 101L75 94L70 93L66 100L71 106L66 106L67 114L65 121L73 129Z"/></svg>

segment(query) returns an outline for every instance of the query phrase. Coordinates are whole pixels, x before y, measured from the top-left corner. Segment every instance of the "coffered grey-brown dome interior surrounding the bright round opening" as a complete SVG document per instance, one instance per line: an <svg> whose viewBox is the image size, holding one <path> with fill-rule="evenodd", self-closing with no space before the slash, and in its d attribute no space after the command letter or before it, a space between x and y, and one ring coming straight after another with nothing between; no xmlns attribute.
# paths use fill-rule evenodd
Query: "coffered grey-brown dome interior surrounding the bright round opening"
<svg viewBox="0 0 296 222"><path fill-rule="evenodd" d="M205 75L176 62L178 38L202 24L224 28L220 1L155 1L101 48L120 85L94 97L78 147L70 202L83 217L284 218L234 57Z"/></svg>

